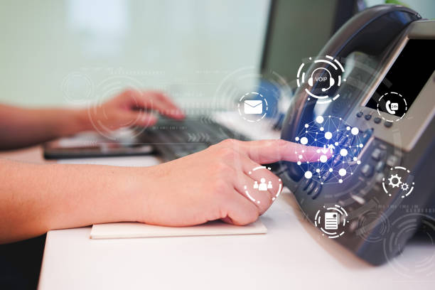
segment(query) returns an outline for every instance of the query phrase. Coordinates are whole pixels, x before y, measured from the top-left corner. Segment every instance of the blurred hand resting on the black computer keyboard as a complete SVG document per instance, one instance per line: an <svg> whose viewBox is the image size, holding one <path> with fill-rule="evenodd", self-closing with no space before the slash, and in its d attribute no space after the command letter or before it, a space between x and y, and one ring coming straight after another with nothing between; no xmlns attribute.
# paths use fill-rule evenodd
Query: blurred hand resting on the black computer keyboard
<svg viewBox="0 0 435 290"><path fill-rule="evenodd" d="M124 90L112 100L87 110L87 129L101 127L115 130L121 127L149 127L157 122L151 112L159 112L173 119L183 119L184 114L163 92Z"/></svg>

